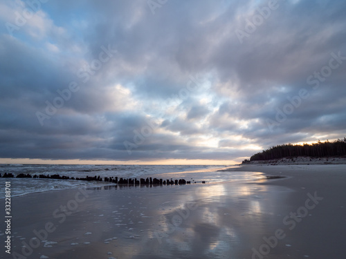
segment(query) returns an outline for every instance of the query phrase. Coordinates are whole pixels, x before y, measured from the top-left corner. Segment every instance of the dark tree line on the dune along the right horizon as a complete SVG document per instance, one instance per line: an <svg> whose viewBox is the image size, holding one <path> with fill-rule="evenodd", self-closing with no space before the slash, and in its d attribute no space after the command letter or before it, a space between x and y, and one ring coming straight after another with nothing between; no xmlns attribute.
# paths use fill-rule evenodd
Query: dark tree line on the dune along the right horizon
<svg viewBox="0 0 346 259"><path fill-rule="evenodd" d="M346 137L343 140L334 142L320 142L313 144L293 145L282 144L268 148L265 151L257 153L250 158L250 161L274 160L283 157L338 157L346 155ZM245 160L244 163L248 162Z"/></svg>

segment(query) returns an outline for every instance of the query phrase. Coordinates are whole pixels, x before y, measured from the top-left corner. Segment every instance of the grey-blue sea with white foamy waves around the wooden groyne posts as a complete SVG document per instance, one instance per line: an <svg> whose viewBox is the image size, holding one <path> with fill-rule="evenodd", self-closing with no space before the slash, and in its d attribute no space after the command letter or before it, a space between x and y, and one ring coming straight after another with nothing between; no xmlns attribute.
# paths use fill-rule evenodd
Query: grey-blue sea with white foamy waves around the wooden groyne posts
<svg viewBox="0 0 346 259"><path fill-rule="evenodd" d="M223 182L237 180L254 180L263 178L261 173L244 172L220 172L220 170L237 167L213 166L213 165L81 165L81 164L0 164L0 173L19 173L30 175L66 175L70 178L85 178L86 176L100 175L104 177L118 178L163 178L166 179L185 179L193 183L202 181ZM37 193L53 190L92 188L112 185L110 182L87 182L80 180L55 180L38 178L0 178L0 198L5 198L5 184L10 182L11 197L26 195L28 193ZM113 184L114 185L114 184Z"/></svg>

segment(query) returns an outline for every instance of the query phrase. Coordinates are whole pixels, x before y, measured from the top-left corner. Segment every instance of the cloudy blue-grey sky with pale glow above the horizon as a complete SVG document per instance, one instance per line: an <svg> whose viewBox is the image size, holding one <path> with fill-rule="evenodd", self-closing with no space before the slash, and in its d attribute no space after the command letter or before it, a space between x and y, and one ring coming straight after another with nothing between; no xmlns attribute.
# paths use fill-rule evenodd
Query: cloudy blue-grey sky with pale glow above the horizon
<svg viewBox="0 0 346 259"><path fill-rule="evenodd" d="M3 0L0 162L233 164L343 138L345 10Z"/></svg>

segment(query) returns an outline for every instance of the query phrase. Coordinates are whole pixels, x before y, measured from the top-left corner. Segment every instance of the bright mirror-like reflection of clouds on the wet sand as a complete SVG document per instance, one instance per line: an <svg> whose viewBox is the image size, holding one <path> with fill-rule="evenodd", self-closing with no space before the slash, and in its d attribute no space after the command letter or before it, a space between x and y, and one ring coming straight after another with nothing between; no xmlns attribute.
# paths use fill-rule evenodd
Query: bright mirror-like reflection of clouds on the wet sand
<svg viewBox="0 0 346 259"><path fill-rule="evenodd" d="M191 188L174 197L176 207L159 211L161 227L145 244L152 254L142 250L138 258L251 258L251 248L277 226L275 204L286 194L277 186L239 182Z"/></svg>

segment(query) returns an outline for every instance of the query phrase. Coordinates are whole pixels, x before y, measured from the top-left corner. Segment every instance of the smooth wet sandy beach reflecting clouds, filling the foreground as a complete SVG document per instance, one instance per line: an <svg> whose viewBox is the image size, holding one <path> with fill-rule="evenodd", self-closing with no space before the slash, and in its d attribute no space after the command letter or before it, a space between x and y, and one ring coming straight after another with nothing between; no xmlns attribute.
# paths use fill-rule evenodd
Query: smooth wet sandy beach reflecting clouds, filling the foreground
<svg viewBox="0 0 346 259"><path fill-rule="evenodd" d="M246 165L211 174L223 182L30 193L12 198L1 258L342 258L345 168Z"/></svg>

